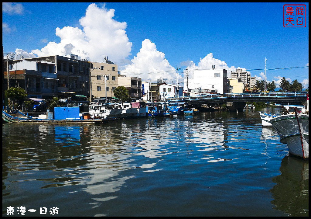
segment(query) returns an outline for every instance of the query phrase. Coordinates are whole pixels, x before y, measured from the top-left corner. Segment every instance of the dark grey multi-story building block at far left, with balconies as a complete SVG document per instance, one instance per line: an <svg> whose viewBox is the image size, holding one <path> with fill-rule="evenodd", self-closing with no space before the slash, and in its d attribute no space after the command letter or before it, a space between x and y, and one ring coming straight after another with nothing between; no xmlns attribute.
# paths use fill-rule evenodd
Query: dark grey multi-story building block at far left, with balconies
<svg viewBox="0 0 311 219"><path fill-rule="evenodd" d="M10 86L24 88L29 98L49 99L73 94L88 96L90 62L77 55L53 55L12 60L9 66ZM4 72L7 78L7 73Z"/></svg>

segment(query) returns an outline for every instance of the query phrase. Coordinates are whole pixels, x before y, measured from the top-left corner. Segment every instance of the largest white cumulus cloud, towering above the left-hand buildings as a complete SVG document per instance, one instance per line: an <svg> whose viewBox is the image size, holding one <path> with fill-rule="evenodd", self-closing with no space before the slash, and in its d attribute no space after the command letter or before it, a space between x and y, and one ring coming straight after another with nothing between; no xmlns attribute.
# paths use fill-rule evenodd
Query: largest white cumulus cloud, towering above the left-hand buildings
<svg viewBox="0 0 311 219"><path fill-rule="evenodd" d="M83 29L65 26L56 28L60 42L49 42L42 49L31 50L37 56L75 54L80 59L102 62L104 56L116 64L126 63L132 43L125 33L126 22L113 19L114 9L92 3L79 22Z"/></svg>

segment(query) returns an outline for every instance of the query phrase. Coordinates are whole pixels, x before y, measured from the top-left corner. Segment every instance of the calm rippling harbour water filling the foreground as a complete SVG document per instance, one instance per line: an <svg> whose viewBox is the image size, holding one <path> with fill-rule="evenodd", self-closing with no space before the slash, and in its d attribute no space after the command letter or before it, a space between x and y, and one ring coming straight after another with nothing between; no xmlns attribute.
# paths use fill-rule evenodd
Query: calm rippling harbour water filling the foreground
<svg viewBox="0 0 311 219"><path fill-rule="evenodd" d="M309 162L288 156L259 111L3 123L2 216L309 216Z"/></svg>

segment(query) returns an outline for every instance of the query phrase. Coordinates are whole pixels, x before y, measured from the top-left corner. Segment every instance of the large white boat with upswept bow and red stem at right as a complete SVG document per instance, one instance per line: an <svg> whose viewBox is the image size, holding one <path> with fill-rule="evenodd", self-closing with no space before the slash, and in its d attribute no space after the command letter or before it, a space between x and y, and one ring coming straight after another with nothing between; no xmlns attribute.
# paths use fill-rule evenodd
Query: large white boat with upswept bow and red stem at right
<svg viewBox="0 0 311 219"><path fill-rule="evenodd" d="M270 122L279 134L280 142L287 144L289 153L307 159L309 158L309 114L299 112L298 108L293 110L293 113L287 111L288 114L274 117Z"/></svg>

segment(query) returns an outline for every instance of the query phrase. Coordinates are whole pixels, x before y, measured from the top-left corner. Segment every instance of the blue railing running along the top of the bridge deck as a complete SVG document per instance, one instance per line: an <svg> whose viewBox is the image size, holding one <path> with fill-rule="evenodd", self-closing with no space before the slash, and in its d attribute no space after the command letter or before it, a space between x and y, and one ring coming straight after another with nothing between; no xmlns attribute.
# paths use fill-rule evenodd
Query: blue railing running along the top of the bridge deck
<svg viewBox="0 0 311 219"><path fill-rule="evenodd" d="M276 93L222 93L200 96L188 96L180 98L167 98L166 101L191 101L191 100L208 100L219 98L271 98L271 97L307 97L308 92L276 92Z"/></svg>

